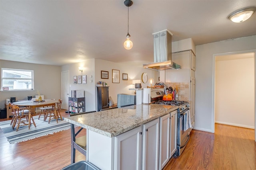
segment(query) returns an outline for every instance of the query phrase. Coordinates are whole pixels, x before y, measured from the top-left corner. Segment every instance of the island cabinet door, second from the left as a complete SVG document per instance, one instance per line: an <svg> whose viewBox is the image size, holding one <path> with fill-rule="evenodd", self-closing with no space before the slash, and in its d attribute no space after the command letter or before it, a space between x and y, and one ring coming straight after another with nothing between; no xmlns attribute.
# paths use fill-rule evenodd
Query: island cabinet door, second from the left
<svg viewBox="0 0 256 170"><path fill-rule="evenodd" d="M158 169L159 119L143 125L142 170Z"/></svg>

